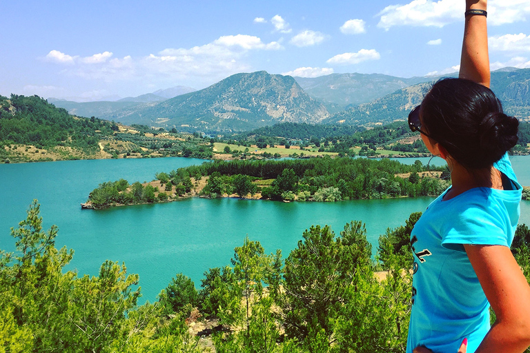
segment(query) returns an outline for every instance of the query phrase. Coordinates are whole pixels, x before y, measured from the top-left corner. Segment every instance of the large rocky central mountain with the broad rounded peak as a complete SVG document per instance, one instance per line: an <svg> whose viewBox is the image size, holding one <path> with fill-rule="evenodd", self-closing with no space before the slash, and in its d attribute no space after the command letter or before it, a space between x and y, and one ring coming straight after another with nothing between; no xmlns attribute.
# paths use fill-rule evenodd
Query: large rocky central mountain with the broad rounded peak
<svg viewBox="0 0 530 353"><path fill-rule="evenodd" d="M328 117L290 76L265 71L234 74L204 90L107 119L199 130L250 130L278 122L320 123Z"/></svg>

